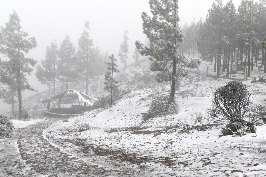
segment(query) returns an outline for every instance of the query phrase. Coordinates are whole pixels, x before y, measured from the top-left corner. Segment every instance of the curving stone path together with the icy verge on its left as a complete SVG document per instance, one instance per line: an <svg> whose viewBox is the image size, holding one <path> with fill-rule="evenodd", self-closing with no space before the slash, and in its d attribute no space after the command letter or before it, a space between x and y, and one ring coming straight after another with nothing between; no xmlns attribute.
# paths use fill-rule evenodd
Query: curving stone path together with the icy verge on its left
<svg viewBox="0 0 266 177"><path fill-rule="evenodd" d="M60 150L45 138L42 132L58 120L33 124L14 132L13 137L0 141L0 176L67 177L67 176L125 176L119 171L83 160ZM136 175L137 176L137 175Z"/></svg>

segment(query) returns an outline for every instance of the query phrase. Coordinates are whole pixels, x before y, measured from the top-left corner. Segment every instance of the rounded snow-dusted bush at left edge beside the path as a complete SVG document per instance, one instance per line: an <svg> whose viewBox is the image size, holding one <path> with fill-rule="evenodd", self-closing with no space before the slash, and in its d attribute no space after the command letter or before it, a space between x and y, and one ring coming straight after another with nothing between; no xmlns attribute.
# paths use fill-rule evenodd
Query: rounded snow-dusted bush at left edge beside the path
<svg viewBox="0 0 266 177"><path fill-rule="evenodd" d="M0 139L12 136L14 125L5 115L0 115Z"/></svg>

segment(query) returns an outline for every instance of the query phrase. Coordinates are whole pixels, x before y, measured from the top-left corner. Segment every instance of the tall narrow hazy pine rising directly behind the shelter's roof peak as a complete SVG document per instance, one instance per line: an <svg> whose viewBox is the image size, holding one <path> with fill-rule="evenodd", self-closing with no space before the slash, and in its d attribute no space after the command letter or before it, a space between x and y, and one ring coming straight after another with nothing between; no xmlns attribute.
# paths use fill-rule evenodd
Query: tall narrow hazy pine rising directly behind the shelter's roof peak
<svg viewBox="0 0 266 177"><path fill-rule="evenodd" d="M81 75L86 78L86 94L88 94L88 85L89 85L89 73L94 70L92 65L92 49L93 40L89 36L90 26L89 22L85 23L85 30L83 31L80 39L78 40L78 51L77 56L80 60Z"/></svg>

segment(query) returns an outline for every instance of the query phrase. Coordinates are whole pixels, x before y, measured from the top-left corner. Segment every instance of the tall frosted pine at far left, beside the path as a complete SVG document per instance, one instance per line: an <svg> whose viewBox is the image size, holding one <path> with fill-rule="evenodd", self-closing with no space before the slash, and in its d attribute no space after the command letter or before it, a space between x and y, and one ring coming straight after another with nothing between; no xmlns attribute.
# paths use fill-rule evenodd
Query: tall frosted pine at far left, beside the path
<svg viewBox="0 0 266 177"><path fill-rule="evenodd" d="M14 90L18 92L19 114L22 114L22 91L35 91L27 82L26 73L31 75L32 67L37 63L32 58L26 58L24 53L37 46L34 37L26 38L27 32L21 31L20 19L15 11L9 15L9 21L1 27L1 53L7 55L11 66ZM32 67L30 67L30 66Z"/></svg>

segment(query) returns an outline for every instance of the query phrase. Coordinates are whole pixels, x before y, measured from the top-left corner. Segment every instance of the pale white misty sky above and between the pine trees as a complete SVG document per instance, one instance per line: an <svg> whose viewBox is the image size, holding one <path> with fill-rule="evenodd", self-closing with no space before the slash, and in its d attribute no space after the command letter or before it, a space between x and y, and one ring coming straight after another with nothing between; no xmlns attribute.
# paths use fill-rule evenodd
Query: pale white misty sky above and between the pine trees
<svg viewBox="0 0 266 177"><path fill-rule="evenodd" d="M179 24L182 26L186 22L191 23L194 18L196 22L200 17L205 19L213 1L179 0ZM228 0L223 0L223 4L227 2ZM241 0L233 2L238 7ZM143 11L150 12L148 0L0 0L0 26L8 21L12 10L20 16L22 31L37 40L38 46L26 54L27 57L38 60L37 65L45 59L46 47L54 39L60 47L62 40L69 35L77 49L77 40L86 21L90 24L90 37L94 46L109 55L113 53L117 59L124 31L128 30L129 60L133 61L131 55L135 48L134 42L145 42L146 39L142 33L140 15ZM28 81L34 89L44 91L48 87L41 85L35 77L35 68L36 65L32 76L28 76ZM34 93L25 91L23 99ZM0 100L0 110L8 107Z"/></svg>

